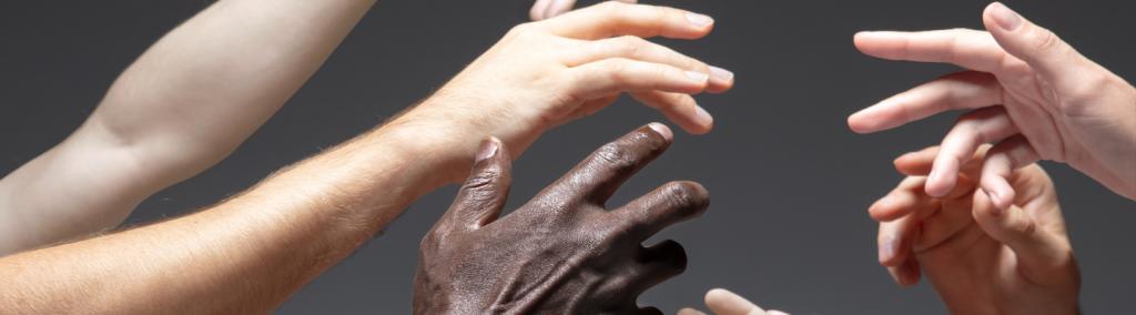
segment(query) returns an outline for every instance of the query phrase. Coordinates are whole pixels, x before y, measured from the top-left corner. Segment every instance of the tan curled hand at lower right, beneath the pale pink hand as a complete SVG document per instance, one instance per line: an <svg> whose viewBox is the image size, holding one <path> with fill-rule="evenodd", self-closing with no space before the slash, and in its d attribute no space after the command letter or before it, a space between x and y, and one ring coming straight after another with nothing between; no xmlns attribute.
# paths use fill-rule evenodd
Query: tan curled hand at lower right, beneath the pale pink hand
<svg viewBox="0 0 1136 315"><path fill-rule="evenodd" d="M922 191L938 148L895 160L909 175L869 212L879 224L879 262L901 285L920 270L954 314L1076 314L1080 276L1045 171L1011 173L1019 193L1008 209L975 193L982 148L943 198Z"/></svg>

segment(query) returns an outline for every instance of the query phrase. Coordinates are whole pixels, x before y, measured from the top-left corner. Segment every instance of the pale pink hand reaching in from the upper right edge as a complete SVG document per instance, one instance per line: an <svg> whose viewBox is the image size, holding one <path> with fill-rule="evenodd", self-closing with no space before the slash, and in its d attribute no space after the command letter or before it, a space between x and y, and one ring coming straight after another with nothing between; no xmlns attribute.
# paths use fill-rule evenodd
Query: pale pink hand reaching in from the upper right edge
<svg viewBox="0 0 1136 315"><path fill-rule="evenodd" d="M947 75L849 117L853 131L893 129L951 109L975 109L943 139L926 191L942 197L983 143L997 143L979 186L1005 209L1017 200L1011 171L1038 159L1068 163L1136 199L1136 89L1050 31L1001 3L986 30L866 32L855 45L894 60L951 63Z"/></svg>

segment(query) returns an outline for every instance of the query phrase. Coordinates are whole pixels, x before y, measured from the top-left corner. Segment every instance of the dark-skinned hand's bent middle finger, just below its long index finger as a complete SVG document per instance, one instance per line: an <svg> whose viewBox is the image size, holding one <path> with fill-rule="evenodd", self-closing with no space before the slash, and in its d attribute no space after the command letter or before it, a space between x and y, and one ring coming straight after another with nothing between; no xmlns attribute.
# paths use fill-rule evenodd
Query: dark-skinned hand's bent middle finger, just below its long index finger
<svg viewBox="0 0 1136 315"><path fill-rule="evenodd" d="M710 206L710 193L694 182L671 182L640 197L612 215L620 234L642 242L673 224L702 215Z"/></svg>

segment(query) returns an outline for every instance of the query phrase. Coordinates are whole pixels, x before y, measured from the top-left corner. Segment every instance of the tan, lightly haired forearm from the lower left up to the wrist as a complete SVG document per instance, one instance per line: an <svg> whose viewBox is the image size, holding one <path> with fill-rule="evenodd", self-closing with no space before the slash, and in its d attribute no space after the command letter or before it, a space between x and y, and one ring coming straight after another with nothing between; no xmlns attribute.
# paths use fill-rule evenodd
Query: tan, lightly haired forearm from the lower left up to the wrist
<svg viewBox="0 0 1136 315"><path fill-rule="evenodd" d="M0 259L15 313L259 313L445 181L444 130L392 123L194 215Z"/></svg>

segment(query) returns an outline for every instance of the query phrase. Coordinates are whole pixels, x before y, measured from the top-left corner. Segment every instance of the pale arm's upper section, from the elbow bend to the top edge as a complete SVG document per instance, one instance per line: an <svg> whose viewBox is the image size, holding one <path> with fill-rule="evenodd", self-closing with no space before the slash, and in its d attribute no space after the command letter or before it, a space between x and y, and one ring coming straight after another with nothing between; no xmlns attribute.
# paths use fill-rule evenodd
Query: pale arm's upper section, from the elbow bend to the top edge
<svg viewBox="0 0 1136 315"><path fill-rule="evenodd" d="M319 69L375 0L224 0L115 82L84 129L144 157L154 185L216 164Z"/></svg>

